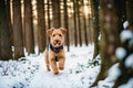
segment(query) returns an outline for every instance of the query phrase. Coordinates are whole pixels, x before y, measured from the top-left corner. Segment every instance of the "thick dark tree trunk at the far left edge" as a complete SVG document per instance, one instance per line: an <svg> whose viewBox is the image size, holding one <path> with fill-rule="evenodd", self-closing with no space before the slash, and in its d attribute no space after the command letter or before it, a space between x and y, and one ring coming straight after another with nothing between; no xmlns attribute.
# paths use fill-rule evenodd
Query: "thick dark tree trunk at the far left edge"
<svg viewBox="0 0 133 88"><path fill-rule="evenodd" d="M0 0L0 59L12 58L11 36L6 11L4 0Z"/></svg>

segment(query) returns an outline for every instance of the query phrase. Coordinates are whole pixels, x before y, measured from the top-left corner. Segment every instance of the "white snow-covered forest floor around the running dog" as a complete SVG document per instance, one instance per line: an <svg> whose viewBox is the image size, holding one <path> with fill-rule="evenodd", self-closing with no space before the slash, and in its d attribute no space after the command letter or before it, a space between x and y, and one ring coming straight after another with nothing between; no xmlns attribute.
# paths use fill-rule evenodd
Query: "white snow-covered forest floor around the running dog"
<svg viewBox="0 0 133 88"><path fill-rule="evenodd" d="M89 88L100 66L90 66L93 45L70 47L64 70L45 70L44 55L29 55L17 61L0 61L0 88ZM66 47L65 47L66 51Z"/></svg>

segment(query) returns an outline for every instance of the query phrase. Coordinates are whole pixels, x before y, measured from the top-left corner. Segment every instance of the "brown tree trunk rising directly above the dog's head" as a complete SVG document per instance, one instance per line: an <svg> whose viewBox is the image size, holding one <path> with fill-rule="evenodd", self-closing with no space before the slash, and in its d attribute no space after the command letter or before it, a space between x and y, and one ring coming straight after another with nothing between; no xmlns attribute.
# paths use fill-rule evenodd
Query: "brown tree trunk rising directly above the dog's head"
<svg viewBox="0 0 133 88"><path fill-rule="evenodd" d="M61 26L60 0L51 0L51 1L52 1L53 28L58 29Z"/></svg>

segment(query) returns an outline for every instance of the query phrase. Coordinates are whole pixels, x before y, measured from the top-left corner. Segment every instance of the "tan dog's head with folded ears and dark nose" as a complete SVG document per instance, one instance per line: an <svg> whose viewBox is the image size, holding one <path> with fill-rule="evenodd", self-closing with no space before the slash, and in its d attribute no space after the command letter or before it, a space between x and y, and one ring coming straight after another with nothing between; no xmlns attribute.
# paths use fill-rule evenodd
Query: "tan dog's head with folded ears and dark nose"
<svg viewBox="0 0 133 88"><path fill-rule="evenodd" d="M66 33L66 30L63 28L60 29L50 29L47 30L47 34L50 35L50 42L54 47L59 47L64 42L64 35Z"/></svg>

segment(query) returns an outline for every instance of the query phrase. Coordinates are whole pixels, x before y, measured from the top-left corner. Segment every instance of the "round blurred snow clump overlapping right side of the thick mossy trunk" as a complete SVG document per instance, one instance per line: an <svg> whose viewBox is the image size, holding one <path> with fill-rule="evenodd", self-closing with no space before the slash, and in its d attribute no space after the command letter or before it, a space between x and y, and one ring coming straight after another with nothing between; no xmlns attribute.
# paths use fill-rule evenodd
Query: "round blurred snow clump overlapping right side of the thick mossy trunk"
<svg viewBox="0 0 133 88"><path fill-rule="evenodd" d="M127 54L127 52L123 47L117 47L115 51L115 55L116 55L117 59L120 59L120 61L122 61L126 56L126 54Z"/></svg>

